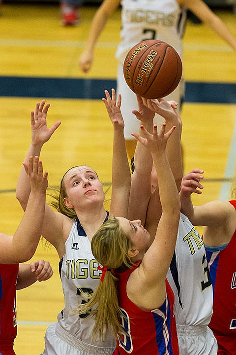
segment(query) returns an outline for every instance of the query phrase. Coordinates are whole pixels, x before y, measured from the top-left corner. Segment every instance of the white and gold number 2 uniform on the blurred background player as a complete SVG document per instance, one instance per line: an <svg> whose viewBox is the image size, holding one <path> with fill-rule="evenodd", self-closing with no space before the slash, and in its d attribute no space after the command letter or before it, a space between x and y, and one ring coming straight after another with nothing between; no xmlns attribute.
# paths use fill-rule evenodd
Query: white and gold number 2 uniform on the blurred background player
<svg viewBox="0 0 236 355"><path fill-rule="evenodd" d="M116 57L119 60L117 93L121 94L121 113L124 118L124 136L134 140L132 132L139 132L140 121L132 110L138 110L135 93L128 87L123 75L123 62L128 51L145 39L159 39L172 45L183 59L182 36L186 24L186 7L176 0L121 0L121 42ZM175 100L178 108L184 96L184 79L166 100ZM164 119L155 115L154 123L160 125Z"/></svg>

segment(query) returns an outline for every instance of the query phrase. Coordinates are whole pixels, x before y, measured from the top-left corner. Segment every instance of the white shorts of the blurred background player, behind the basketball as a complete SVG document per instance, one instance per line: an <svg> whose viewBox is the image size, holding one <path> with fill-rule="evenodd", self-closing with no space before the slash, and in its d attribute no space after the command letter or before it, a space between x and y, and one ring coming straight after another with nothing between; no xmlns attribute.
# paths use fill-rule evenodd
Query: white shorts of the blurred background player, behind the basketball
<svg viewBox="0 0 236 355"><path fill-rule="evenodd" d="M117 94L121 94L121 113L124 119L124 137L125 140L135 140L131 133L139 132L140 121L132 113L132 110L138 110L138 104L135 93L128 87L123 75L123 63L118 65L117 74ZM184 80L181 79L177 88L165 100L175 100L178 103L179 111L184 97ZM163 117L155 115L154 123L162 124L165 122Z"/></svg>

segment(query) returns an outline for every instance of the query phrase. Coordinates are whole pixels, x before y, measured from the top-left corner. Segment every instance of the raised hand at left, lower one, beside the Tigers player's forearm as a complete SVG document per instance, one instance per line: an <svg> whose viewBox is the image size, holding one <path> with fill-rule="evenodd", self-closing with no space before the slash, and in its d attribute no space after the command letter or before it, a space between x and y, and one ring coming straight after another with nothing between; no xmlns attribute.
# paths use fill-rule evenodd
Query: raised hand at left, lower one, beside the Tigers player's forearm
<svg viewBox="0 0 236 355"><path fill-rule="evenodd" d="M46 192L48 187L48 173L43 174L43 164L38 156L34 158L32 155L29 157L29 163L23 163L25 172L29 176L31 190L41 190Z"/></svg>

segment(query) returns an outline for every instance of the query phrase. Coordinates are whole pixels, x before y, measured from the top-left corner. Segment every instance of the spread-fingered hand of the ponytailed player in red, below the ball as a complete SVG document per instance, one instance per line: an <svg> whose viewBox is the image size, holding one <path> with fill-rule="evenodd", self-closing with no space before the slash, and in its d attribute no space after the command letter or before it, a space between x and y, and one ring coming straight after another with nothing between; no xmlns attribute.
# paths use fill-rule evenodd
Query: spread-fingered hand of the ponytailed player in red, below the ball
<svg viewBox="0 0 236 355"><path fill-rule="evenodd" d="M153 126L152 134L150 134L144 126L141 126L140 128L143 131L143 137L138 133L132 133L132 136L146 146L150 153L155 153L156 151L163 152L166 149L166 143L169 137L176 129L176 126L173 126L167 133L165 133L165 126L166 124L163 123L159 134L157 132L157 125Z"/></svg>

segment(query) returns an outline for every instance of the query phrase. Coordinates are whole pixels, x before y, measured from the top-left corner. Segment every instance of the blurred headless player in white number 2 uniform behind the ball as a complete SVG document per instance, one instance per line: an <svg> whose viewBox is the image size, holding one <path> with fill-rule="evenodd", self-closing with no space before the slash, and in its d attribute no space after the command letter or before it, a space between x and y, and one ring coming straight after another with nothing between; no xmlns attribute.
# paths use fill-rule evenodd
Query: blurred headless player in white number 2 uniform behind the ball
<svg viewBox="0 0 236 355"><path fill-rule="evenodd" d="M145 39L160 39L171 44L183 61L182 37L184 35L187 9L190 9L203 23L223 38L236 51L236 38L221 19L202 0L104 0L96 11L89 31L84 51L79 58L82 71L91 68L94 48L108 19L121 4L121 42L118 45L117 92L122 96L121 112L125 120L125 140L130 159L134 156L136 141L131 133L139 129L138 120L131 110L138 109L135 94L127 86L123 77L123 62L129 49ZM184 66L183 66L184 67ZM167 100L175 100L181 108L184 96L184 80ZM158 117L158 120L161 120Z"/></svg>

